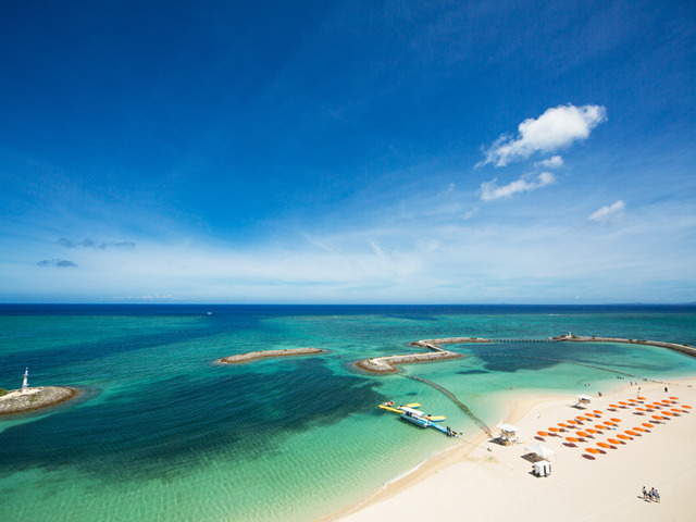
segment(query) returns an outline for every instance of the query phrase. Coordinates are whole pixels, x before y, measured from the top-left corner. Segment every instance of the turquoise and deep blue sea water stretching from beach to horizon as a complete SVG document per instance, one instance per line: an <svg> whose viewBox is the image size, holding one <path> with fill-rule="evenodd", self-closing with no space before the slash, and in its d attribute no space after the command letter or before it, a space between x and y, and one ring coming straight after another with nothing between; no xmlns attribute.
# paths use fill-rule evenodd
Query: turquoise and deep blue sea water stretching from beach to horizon
<svg viewBox="0 0 696 522"><path fill-rule="evenodd" d="M212 311L211 315L207 311ZM0 387L73 385L74 402L0 419L3 520L301 521L380 488L452 444L375 408L418 400L455 430L476 426L444 395L351 362L411 340L544 338L567 332L696 345L696 307L0 307ZM213 365L258 349L316 357ZM498 343L403 366L495 425L510 388L587 393L696 374L670 350ZM505 355L506 357L499 357ZM524 357L508 357L518 355Z"/></svg>

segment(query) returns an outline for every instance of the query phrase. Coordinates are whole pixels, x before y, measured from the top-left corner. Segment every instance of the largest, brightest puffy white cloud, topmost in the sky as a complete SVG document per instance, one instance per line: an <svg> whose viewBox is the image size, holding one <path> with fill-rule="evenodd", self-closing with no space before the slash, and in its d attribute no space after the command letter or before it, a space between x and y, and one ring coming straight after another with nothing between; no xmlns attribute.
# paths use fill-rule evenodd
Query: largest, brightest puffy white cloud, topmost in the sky
<svg viewBox="0 0 696 522"><path fill-rule="evenodd" d="M607 120L601 105L575 107L572 104L547 109L536 120L530 117L518 127L518 136L500 136L486 151L486 159L478 163L505 166L524 160L535 152L552 152L573 141L587 139L593 128Z"/></svg>

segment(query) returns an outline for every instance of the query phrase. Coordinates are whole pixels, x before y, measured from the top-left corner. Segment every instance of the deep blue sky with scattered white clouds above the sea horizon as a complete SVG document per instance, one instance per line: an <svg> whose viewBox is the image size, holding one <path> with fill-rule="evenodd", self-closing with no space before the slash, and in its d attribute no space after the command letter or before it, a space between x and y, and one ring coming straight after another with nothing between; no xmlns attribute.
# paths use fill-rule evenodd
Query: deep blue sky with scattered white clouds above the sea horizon
<svg viewBox="0 0 696 522"><path fill-rule="evenodd" d="M0 300L696 301L696 4L3 2Z"/></svg>

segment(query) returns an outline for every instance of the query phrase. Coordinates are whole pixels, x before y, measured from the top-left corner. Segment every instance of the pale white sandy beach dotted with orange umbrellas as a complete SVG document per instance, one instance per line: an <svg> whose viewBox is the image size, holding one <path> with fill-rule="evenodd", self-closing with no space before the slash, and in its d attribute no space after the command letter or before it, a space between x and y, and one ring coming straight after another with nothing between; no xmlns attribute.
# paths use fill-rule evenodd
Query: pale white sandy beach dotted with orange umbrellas
<svg viewBox="0 0 696 522"><path fill-rule="evenodd" d="M641 396L646 402L679 397L678 405L696 406L696 380L664 385L641 382ZM349 522L383 520L693 520L696 508L696 409L673 417L642 436L622 445L604 449L594 460L586 448L614 438L618 433L650 422L650 415L636 414L635 408L608 411L610 403L635 398L638 386L626 387L604 397L593 396L584 411L602 410L599 419L621 419L617 431L586 438L576 447L567 446L566 431L546 437L542 444L554 451L552 474L536 477L532 463L523 458L524 447L539 440L537 431L546 431L583 414L576 409L575 396L554 399L521 399L511 406L504 422L519 427L522 444L500 446L478 437L475 446L463 443L457 449L428 461L418 471L385 490L336 515ZM678 405L670 405L669 408ZM643 405L638 405L643 406ZM669 411L669 410L668 410ZM573 430L575 432L575 430ZM498 430L494 430L497 435ZM473 450L471 449L473 447ZM588 458L591 457L591 458ZM644 501L641 489L656 487L661 502Z"/></svg>

